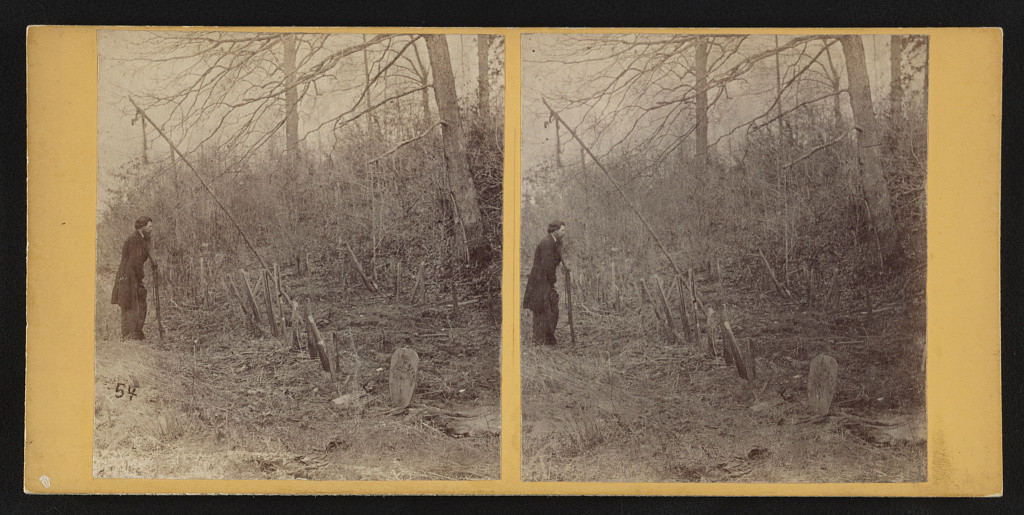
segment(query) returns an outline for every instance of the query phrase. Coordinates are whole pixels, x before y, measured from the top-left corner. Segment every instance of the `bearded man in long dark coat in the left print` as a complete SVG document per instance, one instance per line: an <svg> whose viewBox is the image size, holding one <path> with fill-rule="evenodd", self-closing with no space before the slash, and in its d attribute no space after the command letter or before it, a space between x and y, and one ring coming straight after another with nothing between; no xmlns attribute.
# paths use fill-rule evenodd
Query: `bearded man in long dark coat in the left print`
<svg viewBox="0 0 1024 515"><path fill-rule="evenodd" d="M121 266L114 281L111 304L121 306L121 337L130 340L145 338L142 325L145 324L145 287L142 278L145 272L142 264L150 259L150 232L153 219L143 216L135 220L135 231L125 240L121 248ZM153 267L157 265L151 261Z"/></svg>

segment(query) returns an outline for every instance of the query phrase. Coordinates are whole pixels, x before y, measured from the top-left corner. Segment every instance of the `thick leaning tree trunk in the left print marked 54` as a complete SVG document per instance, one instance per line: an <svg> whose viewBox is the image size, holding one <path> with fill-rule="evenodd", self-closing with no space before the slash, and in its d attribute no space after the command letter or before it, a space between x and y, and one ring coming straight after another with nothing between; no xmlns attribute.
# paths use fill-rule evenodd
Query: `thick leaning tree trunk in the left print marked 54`
<svg viewBox="0 0 1024 515"><path fill-rule="evenodd" d="M459 114L447 40L443 34L428 34L424 36L424 40L434 77L434 100L437 101L437 114L441 121L441 143L447 165L449 187L462 225L462 231L456 231L457 238L462 240L460 246L464 251L460 252L460 256L462 259L469 258L471 262L478 262L489 254L489 249L483 238L480 206L466 159L466 138Z"/></svg>

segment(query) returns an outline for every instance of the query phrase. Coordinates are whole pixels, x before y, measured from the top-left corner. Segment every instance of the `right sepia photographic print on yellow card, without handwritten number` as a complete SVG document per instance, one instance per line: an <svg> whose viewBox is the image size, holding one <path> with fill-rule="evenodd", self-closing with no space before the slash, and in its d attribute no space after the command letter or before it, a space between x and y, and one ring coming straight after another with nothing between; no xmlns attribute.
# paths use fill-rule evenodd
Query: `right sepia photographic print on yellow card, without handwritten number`
<svg viewBox="0 0 1024 515"><path fill-rule="evenodd" d="M522 478L923 482L929 38L522 36Z"/></svg>

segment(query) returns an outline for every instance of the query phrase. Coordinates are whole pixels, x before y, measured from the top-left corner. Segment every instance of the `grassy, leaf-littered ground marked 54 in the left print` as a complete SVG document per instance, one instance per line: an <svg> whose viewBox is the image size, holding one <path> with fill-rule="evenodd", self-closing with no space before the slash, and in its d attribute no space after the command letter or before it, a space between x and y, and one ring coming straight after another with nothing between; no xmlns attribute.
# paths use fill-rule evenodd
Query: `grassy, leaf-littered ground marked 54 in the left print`
<svg viewBox="0 0 1024 515"><path fill-rule="evenodd" d="M112 278L97 278L100 301ZM94 477L499 478L501 316L490 303L453 316L447 294L413 304L323 276L283 282L311 299L325 340L340 338L337 382L304 346L250 336L233 302L198 309L165 293L161 340L151 288L141 342L120 341L117 306L97 302ZM388 368L402 346L419 354L418 386L394 410Z"/></svg>

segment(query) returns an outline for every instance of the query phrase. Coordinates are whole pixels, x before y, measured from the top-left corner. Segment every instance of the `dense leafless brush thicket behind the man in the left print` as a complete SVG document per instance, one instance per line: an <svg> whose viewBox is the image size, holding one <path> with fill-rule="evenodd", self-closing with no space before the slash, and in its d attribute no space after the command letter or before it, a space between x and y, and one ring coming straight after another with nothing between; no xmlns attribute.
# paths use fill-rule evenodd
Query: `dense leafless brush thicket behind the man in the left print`
<svg viewBox="0 0 1024 515"><path fill-rule="evenodd" d="M456 208L447 194L439 128L403 145L423 132L422 124L349 129L334 148L303 148L294 168L281 151L283 134L242 165L231 148L203 147L188 160L268 265L301 262L303 270L336 278L347 270L354 285L359 280L346 263L348 243L381 288L393 284L396 269L412 285L422 264L424 281L434 288L446 292L455 271L456 281L468 287L460 295L497 295L502 114L481 118L469 108L463 111L467 158L492 251L475 265L453 264L458 262ZM219 273L257 264L229 217L181 159L153 152L147 157L118 172L120 186L97 220L97 271L117 269L121 245L142 215L155 220L154 257L172 299L198 301L204 288L219 287Z"/></svg>

